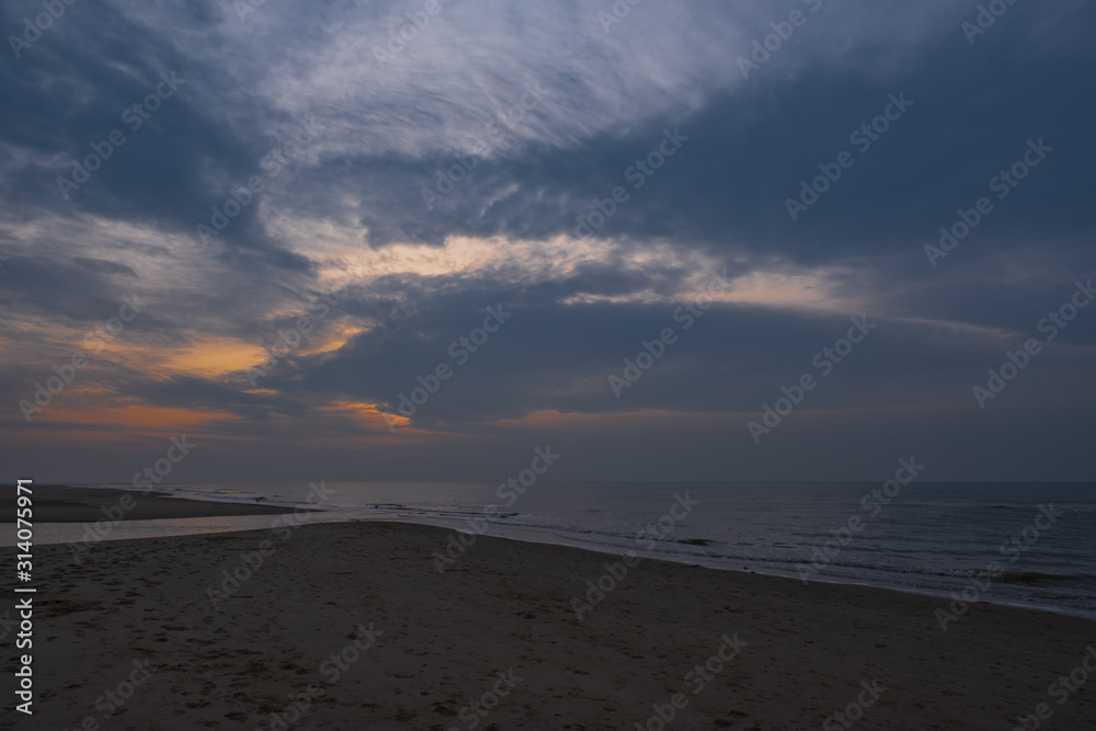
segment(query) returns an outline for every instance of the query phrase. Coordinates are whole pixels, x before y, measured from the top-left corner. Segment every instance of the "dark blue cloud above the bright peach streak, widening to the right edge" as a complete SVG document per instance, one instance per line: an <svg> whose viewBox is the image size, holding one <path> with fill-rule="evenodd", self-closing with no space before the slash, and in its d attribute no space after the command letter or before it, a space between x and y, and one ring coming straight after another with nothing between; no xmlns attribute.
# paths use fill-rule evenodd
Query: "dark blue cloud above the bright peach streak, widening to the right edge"
<svg viewBox="0 0 1096 731"><path fill-rule="evenodd" d="M563 149L533 139L488 155L467 174L458 169L463 180L455 184L438 186L437 173L461 157L469 160L467 149L419 157L335 155L307 172L300 209L338 215L345 213L344 203L331 190L358 194L352 213L368 229L372 245L441 243L453 235L541 239L573 233L575 216L623 186L628 203L594 236L673 238L822 263L920 252L936 241L941 225L956 220L957 209L996 195L987 182L1019 160L1029 140L1043 140L1053 149L1044 164L1001 201L967 248L998 253L1002 243L1026 245L1037 231L1091 232L1088 129L1096 102L1085 89L1096 71L1075 65L1075 47L1026 52L1020 41L1030 42L1042 11L1009 12L1011 24L973 47L956 23L925 43L918 62L886 76L863 72L875 47L856 47L841 69L810 68L790 80L766 67L740 88L715 90L697 110L669 108ZM1052 15L1051 28L1091 22L1094 12L1071 4ZM544 87L549 99L527 113L528 124L543 124L549 107L573 112L586 104L581 84L569 88L549 76ZM850 133L882 114L892 94L913 105L880 139L861 134L850 142ZM491 121L487 101L470 114L481 127ZM430 124L445 122L434 117ZM653 176L640 176L631 165L658 149L667 128L680 128L688 141ZM479 135L487 137L482 129ZM786 199L798 198L801 181L820 175L818 165L832 164L843 150L853 153L854 167L794 222ZM448 187L452 193L429 209L423 190L433 195Z"/></svg>

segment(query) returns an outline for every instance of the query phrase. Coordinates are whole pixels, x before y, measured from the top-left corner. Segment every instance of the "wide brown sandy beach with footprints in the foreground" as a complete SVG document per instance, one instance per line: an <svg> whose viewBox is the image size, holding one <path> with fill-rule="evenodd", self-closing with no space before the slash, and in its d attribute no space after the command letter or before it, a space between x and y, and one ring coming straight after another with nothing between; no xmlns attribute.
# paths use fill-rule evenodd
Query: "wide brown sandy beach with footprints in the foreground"
<svg viewBox="0 0 1096 731"><path fill-rule="evenodd" d="M951 731L1047 704L1052 728L1096 728L1096 675L1048 695L1089 620L980 604L944 632L932 597L650 560L580 620L612 557L480 537L439 574L452 535L111 541L82 568L37 547L36 715L3 727L631 730L657 706L675 730L837 729L849 707L853 728Z"/></svg>

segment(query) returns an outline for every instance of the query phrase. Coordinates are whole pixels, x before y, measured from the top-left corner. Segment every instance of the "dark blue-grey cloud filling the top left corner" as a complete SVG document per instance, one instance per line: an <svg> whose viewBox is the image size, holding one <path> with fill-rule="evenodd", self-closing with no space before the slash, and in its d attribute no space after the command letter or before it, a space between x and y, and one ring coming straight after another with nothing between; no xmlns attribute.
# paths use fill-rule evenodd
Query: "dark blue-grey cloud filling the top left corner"
<svg viewBox="0 0 1096 731"><path fill-rule="evenodd" d="M0 23L13 26L33 8L9 7ZM0 136L24 153L7 165L21 180L10 203L45 215L90 213L193 231L210 206L224 204L230 185L258 172L270 140L254 129L269 111L247 101L218 107L213 100L238 93L219 72L228 61L192 56L171 34L116 7L80 3L18 64L5 59L0 91L20 114L0 122ZM112 133L121 145L111 144ZM102 162L84 178L72 161L83 164L89 156ZM274 267L309 269L253 217L254 208L246 208L224 238Z"/></svg>

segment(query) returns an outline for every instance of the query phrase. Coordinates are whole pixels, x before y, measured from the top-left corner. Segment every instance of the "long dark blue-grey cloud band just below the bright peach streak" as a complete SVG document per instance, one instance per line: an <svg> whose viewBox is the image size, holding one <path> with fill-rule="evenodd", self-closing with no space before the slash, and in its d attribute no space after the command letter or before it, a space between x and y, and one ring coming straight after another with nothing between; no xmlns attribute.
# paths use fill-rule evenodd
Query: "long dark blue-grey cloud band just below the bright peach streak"
<svg viewBox="0 0 1096 731"><path fill-rule="evenodd" d="M640 409L692 412L752 412L794 386L804 373L827 378L809 409L901 407L943 400L964 404L970 387L985 367L1000 365L1004 351L1029 338L1041 338L1036 321L1044 293L1028 293L1029 309L1016 308L1019 327L995 331L927 318L868 313L871 334L846 359L830 367L814 357L847 334L850 316L860 312L779 311L742 305L716 306L692 318L687 302L658 305L570 305L566 295L616 288L605 277L600 286L590 274L552 285L514 286L500 281L465 282L449 288L431 281L389 282L413 306L391 310L383 292L372 301L349 301L345 309L366 316L378 327L359 334L335 353L289 356L263 380L264 387L312 406L331 400L387 403L396 410L401 395L420 386L438 364L454 372L450 380L416 410L418 425L475 423L516 419L532 411L583 413ZM657 276L633 274L626 290L643 289ZM973 294L989 298L992 285ZM1072 286L1058 293L1065 301ZM971 293L968 293L971 294ZM1006 293L995 293L1002 300ZM512 313L476 353L459 353L460 344L479 327L487 307ZM975 318L971 318L975 319ZM688 324L689 327L685 327ZM673 328L677 341L666 347L649 374L614 396L608 380L621 376L625 358L643 351L642 341L657 340ZM1091 335L1094 328L1084 325ZM1076 340L1076 339L1072 339ZM1055 344L1061 345L1066 341ZM456 353L456 354L455 354ZM823 356L821 363L829 361ZM837 361L841 361L838 363ZM1044 355L1040 364L1080 376L1068 350ZM1049 367L1049 366L1047 366ZM832 375L831 375L832 373ZM240 379L242 384L242 379ZM1052 384L1050 384L1052 386ZM1048 389L1048 397L1054 389ZM1069 402L1069 396L1058 393Z"/></svg>

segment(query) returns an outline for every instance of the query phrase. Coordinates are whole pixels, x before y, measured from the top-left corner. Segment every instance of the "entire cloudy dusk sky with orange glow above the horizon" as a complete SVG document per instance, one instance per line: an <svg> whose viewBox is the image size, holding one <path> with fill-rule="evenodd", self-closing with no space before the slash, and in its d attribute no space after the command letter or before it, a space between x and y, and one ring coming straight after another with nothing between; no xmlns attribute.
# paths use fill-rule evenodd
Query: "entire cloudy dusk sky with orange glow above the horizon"
<svg viewBox="0 0 1096 731"><path fill-rule="evenodd" d="M5 2L3 479L1094 480L1094 26Z"/></svg>

